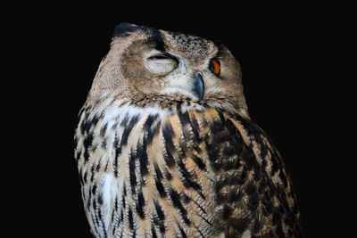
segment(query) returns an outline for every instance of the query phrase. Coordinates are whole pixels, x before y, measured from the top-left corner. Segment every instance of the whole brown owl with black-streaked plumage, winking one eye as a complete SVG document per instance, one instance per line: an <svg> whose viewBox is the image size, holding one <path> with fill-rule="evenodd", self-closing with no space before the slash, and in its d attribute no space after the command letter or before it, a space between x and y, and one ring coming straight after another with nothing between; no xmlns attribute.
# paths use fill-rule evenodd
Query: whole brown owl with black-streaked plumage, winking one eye
<svg viewBox="0 0 357 238"><path fill-rule="evenodd" d="M95 237L301 235L284 163L221 43L118 25L79 111L75 158Z"/></svg>

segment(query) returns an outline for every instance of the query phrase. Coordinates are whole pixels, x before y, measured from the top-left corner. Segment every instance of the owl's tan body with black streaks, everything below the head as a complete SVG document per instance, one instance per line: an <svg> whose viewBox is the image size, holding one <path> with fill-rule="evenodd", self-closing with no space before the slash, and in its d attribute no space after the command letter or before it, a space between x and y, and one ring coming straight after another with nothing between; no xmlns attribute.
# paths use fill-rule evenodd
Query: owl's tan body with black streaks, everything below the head
<svg viewBox="0 0 357 238"><path fill-rule="evenodd" d="M278 226L271 214L295 206L294 198L286 203L288 181L272 171L278 160L265 137L254 145L252 125L237 117L195 103L84 107L75 156L92 233L219 237Z"/></svg>

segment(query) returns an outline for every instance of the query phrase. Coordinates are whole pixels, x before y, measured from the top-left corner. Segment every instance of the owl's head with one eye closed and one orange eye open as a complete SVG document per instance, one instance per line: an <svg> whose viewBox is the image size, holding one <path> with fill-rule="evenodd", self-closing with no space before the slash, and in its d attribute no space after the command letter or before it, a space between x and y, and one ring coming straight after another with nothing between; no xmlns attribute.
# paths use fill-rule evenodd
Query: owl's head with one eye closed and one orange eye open
<svg viewBox="0 0 357 238"><path fill-rule="evenodd" d="M121 23L95 75L89 100L184 97L246 113L241 71L219 42Z"/></svg>

